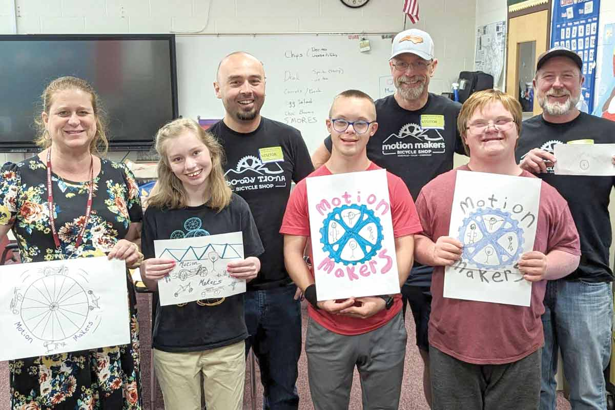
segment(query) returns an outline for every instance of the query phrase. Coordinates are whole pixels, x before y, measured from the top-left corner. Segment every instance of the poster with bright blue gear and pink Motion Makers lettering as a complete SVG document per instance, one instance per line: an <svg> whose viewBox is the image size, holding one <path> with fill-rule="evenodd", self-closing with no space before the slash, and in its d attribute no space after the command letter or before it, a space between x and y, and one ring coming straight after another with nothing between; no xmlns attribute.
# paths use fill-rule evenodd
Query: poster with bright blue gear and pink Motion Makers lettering
<svg viewBox="0 0 615 410"><path fill-rule="evenodd" d="M386 170L306 183L318 300L399 293Z"/></svg>

